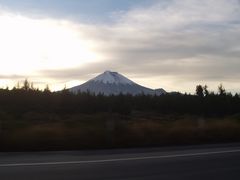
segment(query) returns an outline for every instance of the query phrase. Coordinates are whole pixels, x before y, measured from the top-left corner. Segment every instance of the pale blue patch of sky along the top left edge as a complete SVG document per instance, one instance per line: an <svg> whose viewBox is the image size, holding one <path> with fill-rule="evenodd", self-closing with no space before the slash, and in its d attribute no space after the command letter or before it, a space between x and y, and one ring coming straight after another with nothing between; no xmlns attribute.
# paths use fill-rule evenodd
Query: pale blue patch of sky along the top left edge
<svg viewBox="0 0 240 180"><path fill-rule="evenodd" d="M110 23L112 16L134 5L149 5L156 0L0 0L0 8L34 19L52 17L85 23Z"/></svg>

